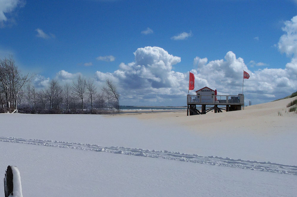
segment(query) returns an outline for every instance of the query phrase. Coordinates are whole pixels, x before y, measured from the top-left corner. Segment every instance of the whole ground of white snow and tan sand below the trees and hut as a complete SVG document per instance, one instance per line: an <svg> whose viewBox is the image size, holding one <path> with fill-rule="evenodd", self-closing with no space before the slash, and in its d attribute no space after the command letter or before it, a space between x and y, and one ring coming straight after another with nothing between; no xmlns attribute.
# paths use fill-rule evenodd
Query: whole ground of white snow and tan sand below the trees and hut
<svg viewBox="0 0 297 197"><path fill-rule="evenodd" d="M293 99L188 117L0 114L0 169L18 167L23 196L295 196Z"/></svg>

